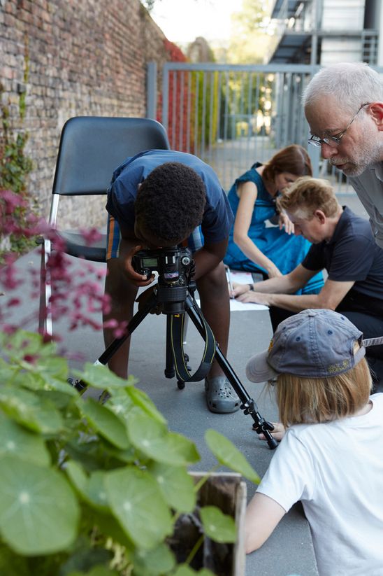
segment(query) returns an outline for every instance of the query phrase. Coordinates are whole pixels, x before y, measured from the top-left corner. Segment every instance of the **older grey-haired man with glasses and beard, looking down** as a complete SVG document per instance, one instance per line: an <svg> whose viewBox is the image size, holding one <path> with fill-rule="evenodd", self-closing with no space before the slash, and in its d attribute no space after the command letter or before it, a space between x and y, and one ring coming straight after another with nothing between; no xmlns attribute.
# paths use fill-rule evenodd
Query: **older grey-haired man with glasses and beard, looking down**
<svg viewBox="0 0 383 576"><path fill-rule="evenodd" d="M349 176L383 248L383 82L368 64L321 69L303 94L312 133L330 164Z"/></svg>

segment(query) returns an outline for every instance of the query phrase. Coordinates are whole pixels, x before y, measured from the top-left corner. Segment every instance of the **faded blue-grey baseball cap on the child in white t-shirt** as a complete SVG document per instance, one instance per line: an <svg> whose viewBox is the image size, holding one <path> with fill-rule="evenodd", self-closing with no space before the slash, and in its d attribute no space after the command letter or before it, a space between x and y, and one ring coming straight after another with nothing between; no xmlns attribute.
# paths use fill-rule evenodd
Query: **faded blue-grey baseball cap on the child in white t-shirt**
<svg viewBox="0 0 383 576"><path fill-rule="evenodd" d="M347 372L365 356L366 346L382 338L363 340L363 332L333 310L308 309L278 325L268 350L250 358L246 376L252 382L279 374L323 378ZM355 343L359 348L354 352Z"/></svg>

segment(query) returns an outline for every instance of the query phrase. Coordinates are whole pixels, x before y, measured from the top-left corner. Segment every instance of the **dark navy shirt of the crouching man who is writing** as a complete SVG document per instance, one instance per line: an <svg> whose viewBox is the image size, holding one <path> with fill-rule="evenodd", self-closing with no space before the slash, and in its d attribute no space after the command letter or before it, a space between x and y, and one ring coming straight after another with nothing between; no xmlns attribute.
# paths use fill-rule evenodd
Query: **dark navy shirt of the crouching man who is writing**
<svg viewBox="0 0 383 576"><path fill-rule="evenodd" d="M383 250L375 244L368 220L347 206L331 240L312 244L302 265L326 269L329 280L354 281L354 293L383 300Z"/></svg>

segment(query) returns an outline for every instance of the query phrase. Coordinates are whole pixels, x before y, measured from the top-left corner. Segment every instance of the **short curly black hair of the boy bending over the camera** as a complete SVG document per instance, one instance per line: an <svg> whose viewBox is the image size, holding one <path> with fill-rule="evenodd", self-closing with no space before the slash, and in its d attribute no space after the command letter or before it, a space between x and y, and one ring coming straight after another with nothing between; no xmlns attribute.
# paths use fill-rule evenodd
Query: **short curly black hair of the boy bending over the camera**
<svg viewBox="0 0 383 576"><path fill-rule="evenodd" d="M134 207L147 230L176 243L201 224L205 202L201 176L180 162L165 162L140 185Z"/></svg>

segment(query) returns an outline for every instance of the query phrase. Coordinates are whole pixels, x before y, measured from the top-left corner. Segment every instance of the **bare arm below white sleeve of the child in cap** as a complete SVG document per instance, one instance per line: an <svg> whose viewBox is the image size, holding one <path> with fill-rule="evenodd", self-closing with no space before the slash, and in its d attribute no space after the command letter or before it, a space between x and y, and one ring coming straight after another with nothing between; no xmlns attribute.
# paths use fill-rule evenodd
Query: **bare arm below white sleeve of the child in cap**
<svg viewBox="0 0 383 576"><path fill-rule="evenodd" d="M245 517L245 550L250 554L268 539L286 511L273 498L256 492L247 506Z"/></svg>

